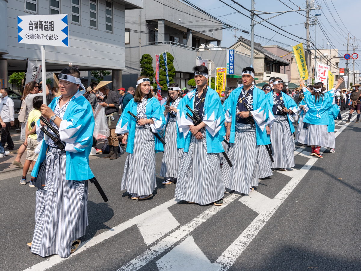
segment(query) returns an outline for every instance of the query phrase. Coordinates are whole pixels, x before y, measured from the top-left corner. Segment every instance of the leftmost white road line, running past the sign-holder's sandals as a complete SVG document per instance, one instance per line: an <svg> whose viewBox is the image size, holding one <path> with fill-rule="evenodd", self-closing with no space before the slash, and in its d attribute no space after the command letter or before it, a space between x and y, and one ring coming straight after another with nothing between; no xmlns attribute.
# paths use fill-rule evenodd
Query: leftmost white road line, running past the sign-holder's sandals
<svg viewBox="0 0 361 271"><path fill-rule="evenodd" d="M59 255L55 255L52 256L48 259L46 259L43 262L34 264L33 266L25 269L24 271L43 271L43 270L47 270L48 268L54 266L55 264L61 263L71 257L73 257L74 255L77 255L79 253L82 253L84 250L91 248L92 246L95 246L96 244L99 244L100 242L103 242L104 240L113 237L114 235L124 231L125 229L137 224L137 223L141 223L142 221L146 220L147 218L164 211L165 209L167 209L168 207L174 205L175 203L179 202L178 199L171 199L170 201L167 201L165 203L162 203L161 205L158 205L157 207L154 207L151 210L148 210L146 212L144 212L143 214L137 215L132 219L129 219L115 227L113 227L112 229L105 231L103 233L100 233L99 235L90 238L89 240L83 242L79 248L77 249L77 251L75 251L73 254L71 254L68 258L61 258Z"/></svg>

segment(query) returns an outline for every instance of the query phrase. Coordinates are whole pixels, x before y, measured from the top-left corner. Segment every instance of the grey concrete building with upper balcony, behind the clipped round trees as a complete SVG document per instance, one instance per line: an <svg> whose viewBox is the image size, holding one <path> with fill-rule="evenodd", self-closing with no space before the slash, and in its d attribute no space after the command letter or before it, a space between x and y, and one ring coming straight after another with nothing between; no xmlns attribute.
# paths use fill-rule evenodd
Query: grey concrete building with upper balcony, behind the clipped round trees
<svg viewBox="0 0 361 271"><path fill-rule="evenodd" d="M181 87L190 87L186 83L194 77L192 68L197 56L212 60L212 70L214 66L226 67L228 48L221 47L222 23L181 1L144 0L142 10L126 10L125 28L123 87L135 86L140 75L139 60L145 53L153 57L154 70L155 55L171 53L176 70L174 81ZM235 74L239 75L249 65L249 56L235 52L234 63ZM237 79L232 81L236 86Z"/></svg>

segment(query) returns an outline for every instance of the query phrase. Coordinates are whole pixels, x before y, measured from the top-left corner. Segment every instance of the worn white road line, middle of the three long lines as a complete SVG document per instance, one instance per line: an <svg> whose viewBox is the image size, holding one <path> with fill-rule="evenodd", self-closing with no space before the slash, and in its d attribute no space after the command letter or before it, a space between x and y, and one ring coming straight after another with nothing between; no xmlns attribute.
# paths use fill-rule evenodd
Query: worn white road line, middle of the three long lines
<svg viewBox="0 0 361 271"><path fill-rule="evenodd" d="M159 256L162 252L167 249L170 249L174 246L175 243L178 241L185 239L189 236L190 232L193 229L196 229L199 225L203 224L203 222L207 221L213 215L217 214L217 212L221 211L231 202L239 197L239 194L230 194L228 197L223 199L222 206L212 206L208 210L204 211L202 214L197 216L196 218L192 219L186 225L180 227L170 235L164 237L161 241L157 244L152 246L151 248L145 250L142 254L138 257L134 258L130 262L123 265L117 271L136 271L145 266L145 264L152 261L154 258Z"/></svg>

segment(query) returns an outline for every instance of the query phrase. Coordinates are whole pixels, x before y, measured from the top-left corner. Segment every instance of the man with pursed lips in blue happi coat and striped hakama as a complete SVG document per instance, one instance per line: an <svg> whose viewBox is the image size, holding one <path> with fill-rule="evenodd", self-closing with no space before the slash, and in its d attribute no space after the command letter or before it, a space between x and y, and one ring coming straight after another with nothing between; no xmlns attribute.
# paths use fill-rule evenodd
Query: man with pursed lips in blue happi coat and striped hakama
<svg viewBox="0 0 361 271"><path fill-rule="evenodd" d="M252 85L255 70L242 71L242 87L233 90L225 102L227 155L233 166L223 164L222 177L226 188L248 194L252 186L258 186L258 153L260 145L270 144L265 126L268 121L268 105L263 90ZM250 112L248 111L249 108Z"/></svg>

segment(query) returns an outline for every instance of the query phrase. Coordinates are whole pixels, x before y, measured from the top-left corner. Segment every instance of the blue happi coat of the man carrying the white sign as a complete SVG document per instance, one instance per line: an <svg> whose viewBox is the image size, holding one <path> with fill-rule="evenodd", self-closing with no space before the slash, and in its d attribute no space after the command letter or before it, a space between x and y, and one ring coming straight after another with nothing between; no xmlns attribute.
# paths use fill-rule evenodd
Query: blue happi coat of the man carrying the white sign
<svg viewBox="0 0 361 271"><path fill-rule="evenodd" d="M49 107L54 111L60 97L52 100ZM39 126L39 120L37 125ZM78 91L70 99L59 127L60 139L66 143L66 180L82 181L94 177L89 167L89 154L93 144L94 116L90 103ZM43 139L38 160L31 171L32 177L38 176L39 166L46 157L48 144Z"/></svg>

